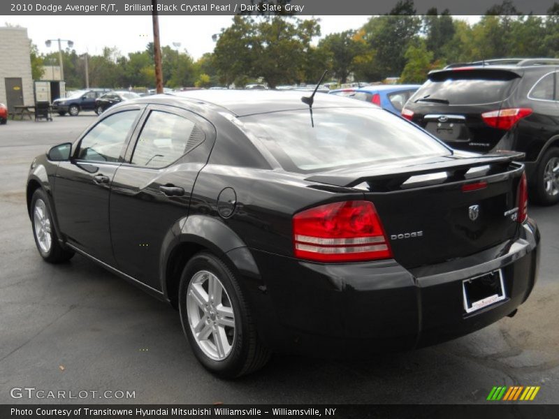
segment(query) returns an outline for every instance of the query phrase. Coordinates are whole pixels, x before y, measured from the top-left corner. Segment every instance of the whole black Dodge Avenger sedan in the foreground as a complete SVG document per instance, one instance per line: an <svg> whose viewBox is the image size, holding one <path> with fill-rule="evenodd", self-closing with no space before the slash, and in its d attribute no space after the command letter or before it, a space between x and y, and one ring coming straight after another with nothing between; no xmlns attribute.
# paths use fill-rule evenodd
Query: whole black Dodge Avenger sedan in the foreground
<svg viewBox="0 0 559 419"><path fill-rule="evenodd" d="M170 302L225 377L273 352L370 357L514 315L539 244L519 156L457 152L370 103L302 94L103 112L31 164L39 253L80 253Z"/></svg>

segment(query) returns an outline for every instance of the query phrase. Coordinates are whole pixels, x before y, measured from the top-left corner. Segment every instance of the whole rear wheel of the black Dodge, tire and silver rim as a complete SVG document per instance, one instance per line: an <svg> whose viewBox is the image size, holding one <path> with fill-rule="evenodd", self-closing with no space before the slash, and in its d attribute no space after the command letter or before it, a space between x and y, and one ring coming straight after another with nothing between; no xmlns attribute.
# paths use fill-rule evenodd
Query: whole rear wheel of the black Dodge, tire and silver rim
<svg viewBox="0 0 559 419"><path fill-rule="evenodd" d="M270 359L235 275L212 253L198 253L184 267L179 311L194 355L213 374L236 378Z"/></svg>

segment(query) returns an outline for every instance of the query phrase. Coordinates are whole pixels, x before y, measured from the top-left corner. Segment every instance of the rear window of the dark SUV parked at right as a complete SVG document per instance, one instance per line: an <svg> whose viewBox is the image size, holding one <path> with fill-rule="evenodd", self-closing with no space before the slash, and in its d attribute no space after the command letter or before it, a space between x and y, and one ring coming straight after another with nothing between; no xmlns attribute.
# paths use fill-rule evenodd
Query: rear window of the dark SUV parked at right
<svg viewBox="0 0 559 419"><path fill-rule="evenodd" d="M518 80L510 71L443 71L429 80L412 97L412 103L485 105L504 101Z"/></svg>

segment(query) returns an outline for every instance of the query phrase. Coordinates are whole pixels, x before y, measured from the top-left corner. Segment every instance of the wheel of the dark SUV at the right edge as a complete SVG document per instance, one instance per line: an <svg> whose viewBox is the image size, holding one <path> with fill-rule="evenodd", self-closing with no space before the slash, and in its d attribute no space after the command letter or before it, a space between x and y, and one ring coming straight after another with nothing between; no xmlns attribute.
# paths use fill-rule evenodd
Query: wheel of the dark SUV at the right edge
<svg viewBox="0 0 559 419"><path fill-rule="evenodd" d="M541 205L559 202L559 148L547 150L535 172L535 200Z"/></svg>

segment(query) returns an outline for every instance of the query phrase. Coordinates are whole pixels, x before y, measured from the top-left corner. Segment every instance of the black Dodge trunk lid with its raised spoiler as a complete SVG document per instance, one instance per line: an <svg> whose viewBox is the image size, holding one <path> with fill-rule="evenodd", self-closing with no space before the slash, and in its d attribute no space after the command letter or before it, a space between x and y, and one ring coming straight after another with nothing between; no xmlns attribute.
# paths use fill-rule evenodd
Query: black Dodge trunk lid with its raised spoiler
<svg viewBox="0 0 559 419"><path fill-rule="evenodd" d="M521 154L443 156L307 180L363 189L407 268L469 256L516 237ZM515 210L516 208L516 210Z"/></svg>

